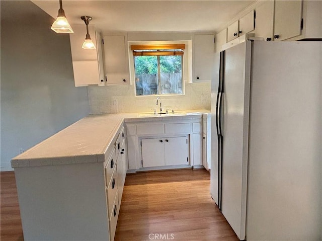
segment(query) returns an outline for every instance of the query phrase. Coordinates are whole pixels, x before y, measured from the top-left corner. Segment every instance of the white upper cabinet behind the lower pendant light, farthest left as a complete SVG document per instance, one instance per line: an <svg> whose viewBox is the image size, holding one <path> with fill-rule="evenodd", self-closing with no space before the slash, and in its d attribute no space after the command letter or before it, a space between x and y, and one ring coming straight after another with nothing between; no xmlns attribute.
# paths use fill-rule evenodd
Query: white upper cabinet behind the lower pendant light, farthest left
<svg viewBox="0 0 322 241"><path fill-rule="evenodd" d="M69 34L72 66L75 86L104 85L104 69L101 51L101 42L97 41L94 26L89 26L89 33L96 49L83 49L82 44L86 37L86 26L73 25L74 33Z"/></svg>

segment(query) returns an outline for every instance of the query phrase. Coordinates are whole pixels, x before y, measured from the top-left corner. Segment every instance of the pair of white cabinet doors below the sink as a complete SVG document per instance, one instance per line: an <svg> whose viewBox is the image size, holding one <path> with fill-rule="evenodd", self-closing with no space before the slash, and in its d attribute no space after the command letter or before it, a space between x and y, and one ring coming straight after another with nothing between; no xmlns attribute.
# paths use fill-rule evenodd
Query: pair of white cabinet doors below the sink
<svg viewBox="0 0 322 241"><path fill-rule="evenodd" d="M142 166L189 165L188 137L141 139Z"/></svg>

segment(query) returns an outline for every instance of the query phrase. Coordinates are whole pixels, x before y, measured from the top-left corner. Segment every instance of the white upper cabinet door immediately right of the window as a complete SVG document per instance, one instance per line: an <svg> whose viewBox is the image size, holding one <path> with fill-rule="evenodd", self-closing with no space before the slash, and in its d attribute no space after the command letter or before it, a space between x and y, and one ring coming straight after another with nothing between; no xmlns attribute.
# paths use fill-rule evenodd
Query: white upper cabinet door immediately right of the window
<svg viewBox="0 0 322 241"><path fill-rule="evenodd" d="M211 81L214 35L194 36L194 82Z"/></svg>

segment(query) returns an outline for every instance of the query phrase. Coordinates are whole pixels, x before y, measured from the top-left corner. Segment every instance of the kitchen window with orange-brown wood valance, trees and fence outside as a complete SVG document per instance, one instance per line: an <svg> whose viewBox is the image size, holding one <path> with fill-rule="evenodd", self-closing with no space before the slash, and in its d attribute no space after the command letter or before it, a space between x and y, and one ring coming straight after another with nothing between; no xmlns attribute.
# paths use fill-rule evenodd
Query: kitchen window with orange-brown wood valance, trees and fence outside
<svg viewBox="0 0 322 241"><path fill-rule="evenodd" d="M131 45L136 96L182 95L185 44Z"/></svg>

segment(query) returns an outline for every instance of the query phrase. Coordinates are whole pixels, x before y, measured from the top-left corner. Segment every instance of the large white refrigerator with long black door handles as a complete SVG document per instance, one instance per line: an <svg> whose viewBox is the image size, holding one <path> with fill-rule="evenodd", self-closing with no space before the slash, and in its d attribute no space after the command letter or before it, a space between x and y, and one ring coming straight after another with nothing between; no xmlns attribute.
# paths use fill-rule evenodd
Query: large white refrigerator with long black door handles
<svg viewBox="0 0 322 241"><path fill-rule="evenodd" d="M322 42L217 53L211 196L240 240L322 239Z"/></svg>

